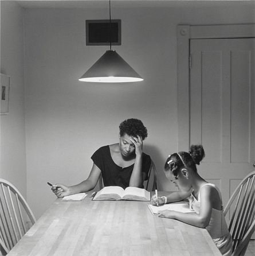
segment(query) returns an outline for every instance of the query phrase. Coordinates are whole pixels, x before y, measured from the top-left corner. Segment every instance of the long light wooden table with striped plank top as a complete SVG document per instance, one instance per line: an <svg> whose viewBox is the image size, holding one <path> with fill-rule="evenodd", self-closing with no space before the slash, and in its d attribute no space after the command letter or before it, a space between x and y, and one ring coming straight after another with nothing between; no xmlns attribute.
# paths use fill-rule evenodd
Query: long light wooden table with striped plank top
<svg viewBox="0 0 255 256"><path fill-rule="evenodd" d="M205 228L152 215L150 202L92 201L89 195L56 199L8 256L221 256Z"/></svg>

